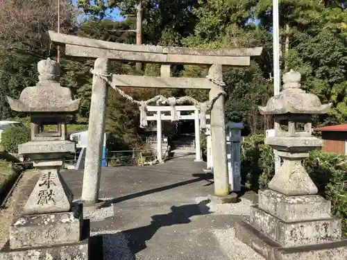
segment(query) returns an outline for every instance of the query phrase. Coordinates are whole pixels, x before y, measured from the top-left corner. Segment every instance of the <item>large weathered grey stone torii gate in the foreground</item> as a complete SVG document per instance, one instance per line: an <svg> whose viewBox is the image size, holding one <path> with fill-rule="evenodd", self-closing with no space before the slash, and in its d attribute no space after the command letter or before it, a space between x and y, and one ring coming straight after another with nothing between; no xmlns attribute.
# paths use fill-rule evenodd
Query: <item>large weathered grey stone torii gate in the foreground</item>
<svg viewBox="0 0 347 260"><path fill-rule="evenodd" d="M65 46L69 56L96 58L93 71L92 101L82 200L85 205L99 201L101 153L108 84L117 87L159 87L210 89L210 122L214 165L214 193L230 194L226 155L226 123L222 65L249 66L251 56L260 55L262 47L253 49L190 49L105 42L49 31L51 42ZM162 64L161 77L108 75L108 60ZM171 64L210 65L207 78L171 78Z"/></svg>

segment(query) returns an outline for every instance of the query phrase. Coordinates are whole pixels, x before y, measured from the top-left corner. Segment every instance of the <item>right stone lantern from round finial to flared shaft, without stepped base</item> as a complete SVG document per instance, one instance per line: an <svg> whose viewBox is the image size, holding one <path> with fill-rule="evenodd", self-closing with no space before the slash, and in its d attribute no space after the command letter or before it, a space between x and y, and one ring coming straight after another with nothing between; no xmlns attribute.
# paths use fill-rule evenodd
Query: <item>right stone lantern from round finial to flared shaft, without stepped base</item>
<svg viewBox="0 0 347 260"><path fill-rule="evenodd" d="M274 116L275 136L267 137L265 142L278 150L278 156L283 159L281 172L273 177L269 189L287 196L318 192L301 160L308 157L310 150L323 146L322 139L312 137L312 114L325 114L331 107L300 89L300 80L300 73L286 73L280 95L270 98L266 107L259 107L260 114Z"/></svg>

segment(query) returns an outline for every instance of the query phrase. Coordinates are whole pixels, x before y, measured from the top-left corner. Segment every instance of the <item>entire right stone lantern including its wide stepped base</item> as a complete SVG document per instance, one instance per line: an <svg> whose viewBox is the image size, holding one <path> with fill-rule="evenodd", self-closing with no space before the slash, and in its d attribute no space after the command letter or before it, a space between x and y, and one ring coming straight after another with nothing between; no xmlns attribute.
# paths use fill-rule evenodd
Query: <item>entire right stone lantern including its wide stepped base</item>
<svg viewBox="0 0 347 260"><path fill-rule="evenodd" d="M317 195L302 164L311 150L323 146L312 137L312 114L325 114L331 104L322 105L300 81L300 73L285 73L282 92L259 107L261 114L274 116L275 136L265 143L278 150L283 164L269 189L260 191L249 219L238 223L236 236L266 259L347 259L340 220L331 216L330 201Z"/></svg>

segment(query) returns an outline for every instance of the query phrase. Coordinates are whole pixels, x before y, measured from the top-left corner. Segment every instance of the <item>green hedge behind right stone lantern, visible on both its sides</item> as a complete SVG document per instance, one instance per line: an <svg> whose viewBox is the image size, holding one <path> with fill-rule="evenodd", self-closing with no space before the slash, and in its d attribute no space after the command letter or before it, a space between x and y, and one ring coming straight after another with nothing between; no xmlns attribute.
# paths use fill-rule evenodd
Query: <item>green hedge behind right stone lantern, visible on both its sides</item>
<svg viewBox="0 0 347 260"><path fill-rule="evenodd" d="M263 135L246 137L242 142L242 182L258 191L266 189L275 173L272 148ZM319 189L319 195L332 203L332 215L341 218L347 236L347 156L314 150L303 165Z"/></svg>

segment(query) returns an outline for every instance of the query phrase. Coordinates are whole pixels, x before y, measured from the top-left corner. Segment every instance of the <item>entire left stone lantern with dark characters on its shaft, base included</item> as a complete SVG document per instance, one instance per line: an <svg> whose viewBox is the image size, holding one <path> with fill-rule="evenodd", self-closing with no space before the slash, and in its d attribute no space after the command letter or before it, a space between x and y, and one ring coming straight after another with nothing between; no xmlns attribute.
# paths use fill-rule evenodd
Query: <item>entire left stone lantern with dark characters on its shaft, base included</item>
<svg viewBox="0 0 347 260"><path fill-rule="evenodd" d="M19 100L8 97L8 103L31 116L31 141L18 150L41 175L24 214L10 225L10 240L0 259L87 259L82 205L72 202L73 194L60 175L65 155L74 153L76 146L67 140L66 118L78 111L80 100L72 100L71 91L60 86L57 62L41 60L37 71L35 87L26 87Z"/></svg>

